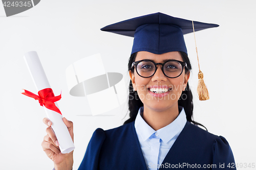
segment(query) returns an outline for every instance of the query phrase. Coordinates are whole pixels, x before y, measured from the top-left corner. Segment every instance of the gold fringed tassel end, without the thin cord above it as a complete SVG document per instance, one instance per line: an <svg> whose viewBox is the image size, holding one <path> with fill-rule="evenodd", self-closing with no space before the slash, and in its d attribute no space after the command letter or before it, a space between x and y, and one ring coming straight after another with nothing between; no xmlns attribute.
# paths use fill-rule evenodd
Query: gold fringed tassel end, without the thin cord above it
<svg viewBox="0 0 256 170"><path fill-rule="evenodd" d="M199 73L198 73L197 93L200 101L206 101L210 99L209 92L204 83L204 74L201 70L199 70Z"/></svg>

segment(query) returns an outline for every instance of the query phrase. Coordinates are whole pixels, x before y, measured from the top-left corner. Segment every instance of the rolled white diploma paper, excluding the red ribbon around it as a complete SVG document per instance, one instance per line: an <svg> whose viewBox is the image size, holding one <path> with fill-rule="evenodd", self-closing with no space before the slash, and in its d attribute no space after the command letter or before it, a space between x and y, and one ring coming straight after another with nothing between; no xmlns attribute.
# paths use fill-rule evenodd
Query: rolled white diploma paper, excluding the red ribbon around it
<svg viewBox="0 0 256 170"><path fill-rule="evenodd" d="M37 91L45 88L51 88L37 53L33 51L28 52L24 55L24 59L28 66L30 75L35 83ZM56 102L55 105L58 107ZM62 120L62 115L53 110L47 109L45 106L44 108L47 117L52 122L52 129L55 132L59 142L60 152L62 154L70 153L75 149L75 146L69 134L69 130Z"/></svg>

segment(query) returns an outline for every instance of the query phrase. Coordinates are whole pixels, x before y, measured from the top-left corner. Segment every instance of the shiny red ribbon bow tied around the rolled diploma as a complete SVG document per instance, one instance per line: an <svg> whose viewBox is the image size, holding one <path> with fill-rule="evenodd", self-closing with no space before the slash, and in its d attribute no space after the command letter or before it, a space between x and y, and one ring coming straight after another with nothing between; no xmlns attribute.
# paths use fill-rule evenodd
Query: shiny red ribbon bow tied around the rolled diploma
<svg viewBox="0 0 256 170"><path fill-rule="evenodd" d="M54 102L57 102L61 99L61 94L58 96L55 96L51 88L45 88L40 91L38 91L38 95L28 91L24 90L22 94L29 96L30 98L34 98L35 100L38 100L41 106L45 106L47 109L53 110L59 114L61 112L57 108ZM61 114L62 115L62 114Z"/></svg>

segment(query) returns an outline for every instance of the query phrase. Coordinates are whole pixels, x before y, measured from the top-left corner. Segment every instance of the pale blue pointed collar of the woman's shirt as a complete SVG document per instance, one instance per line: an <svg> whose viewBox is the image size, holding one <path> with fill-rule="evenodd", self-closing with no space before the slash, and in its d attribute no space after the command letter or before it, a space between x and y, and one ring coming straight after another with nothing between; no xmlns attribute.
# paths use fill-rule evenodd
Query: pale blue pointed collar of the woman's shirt
<svg viewBox="0 0 256 170"><path fill-rule="evenodd" d="M184 108L182 108L181 112L179 113L178 117L169 125L155 131L151 128L145 120L141 117L143 114L144 107L140 107L138 114L135 119L135 129L136 132L140 134L143 141L146 141L152 134L157 132L159 137L162 139L164 143L167 143L170 139L172 139L177 133L181 132L184 128L187 120Z"/></svg>

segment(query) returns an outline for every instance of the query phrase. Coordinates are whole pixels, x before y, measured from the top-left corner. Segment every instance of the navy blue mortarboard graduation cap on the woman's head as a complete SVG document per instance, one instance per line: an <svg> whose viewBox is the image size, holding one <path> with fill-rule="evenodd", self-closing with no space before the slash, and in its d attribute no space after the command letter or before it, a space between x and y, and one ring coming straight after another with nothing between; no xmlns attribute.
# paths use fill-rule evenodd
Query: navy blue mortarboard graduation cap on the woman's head
<svg viewBox="0 0 256 170"><path fill-rule="evenodd" d="M194 21L195 31L213 27L219 25ZM132 54L139 51L154 54L173 51L187 53L183 35L193 32L193 25L191 20L158 12L114 23L101 31L134 37Z"/></svg>

